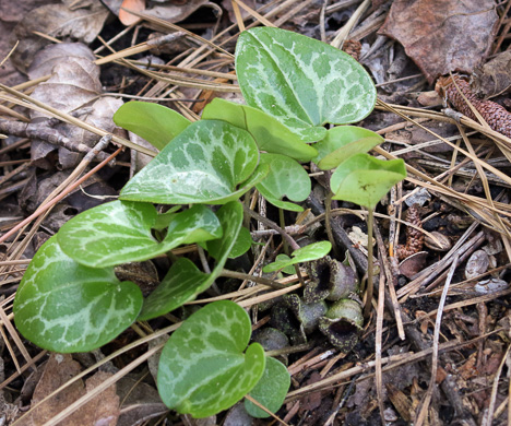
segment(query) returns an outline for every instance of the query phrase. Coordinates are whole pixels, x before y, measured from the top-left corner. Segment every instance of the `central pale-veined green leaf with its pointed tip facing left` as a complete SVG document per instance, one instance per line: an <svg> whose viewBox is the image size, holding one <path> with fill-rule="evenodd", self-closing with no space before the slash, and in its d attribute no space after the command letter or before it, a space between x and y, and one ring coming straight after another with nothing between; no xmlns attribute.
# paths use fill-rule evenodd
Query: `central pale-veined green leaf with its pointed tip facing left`
<svg viewBox="0 0 511 426"><path fill-rule="evenodd" d="M268 167L255 169L258 162L258 145L246 130L224 121L195 121L126 185L121 199L225 204L264 178Z"/></svg>

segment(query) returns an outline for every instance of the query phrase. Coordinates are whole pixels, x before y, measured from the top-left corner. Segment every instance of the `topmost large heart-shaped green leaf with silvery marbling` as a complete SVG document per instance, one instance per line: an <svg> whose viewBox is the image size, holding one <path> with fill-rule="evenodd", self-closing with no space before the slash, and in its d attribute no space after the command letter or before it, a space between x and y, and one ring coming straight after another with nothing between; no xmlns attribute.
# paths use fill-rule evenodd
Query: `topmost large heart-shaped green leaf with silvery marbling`
<svg viewBox="0 0 511 426"><path fill-rule="evenodd" d="M236 73L248 105L317 141L323 125L359 121L376 103L371 78L349 55L280 28L241 33Z"/></svg>

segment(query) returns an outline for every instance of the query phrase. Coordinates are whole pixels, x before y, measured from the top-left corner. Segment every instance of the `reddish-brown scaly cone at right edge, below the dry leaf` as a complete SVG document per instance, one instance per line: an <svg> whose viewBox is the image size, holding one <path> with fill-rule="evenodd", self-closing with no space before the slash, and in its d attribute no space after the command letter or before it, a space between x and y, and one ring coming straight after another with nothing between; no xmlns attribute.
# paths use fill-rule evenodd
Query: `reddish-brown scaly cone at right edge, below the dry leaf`
<svg viewBox="0 0 511 426"><path fill-rule="evenodd" d="M438 79L436 90L440 95L444 96L455 109L478 122L479 120L465 102L465 97L472 106L477 109L491 129L511 138L511 114L495 102L479 99L472 91L468 82L462 76L442 76Z"/></svg>

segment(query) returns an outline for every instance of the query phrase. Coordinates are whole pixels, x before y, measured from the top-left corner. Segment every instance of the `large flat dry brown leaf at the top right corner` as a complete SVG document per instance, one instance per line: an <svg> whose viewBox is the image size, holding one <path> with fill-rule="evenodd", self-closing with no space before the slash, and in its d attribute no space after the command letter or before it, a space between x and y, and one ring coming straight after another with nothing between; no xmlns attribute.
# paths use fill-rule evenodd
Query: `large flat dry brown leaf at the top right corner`
<svg viewBox="0 0 511 426"><path fill-rule="evenodd" d="M379 33L400 42L432 83L472 72L488 54L497 20L494 0L396 0Z"/></svg>

